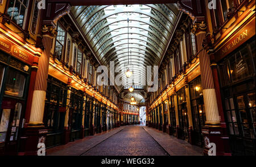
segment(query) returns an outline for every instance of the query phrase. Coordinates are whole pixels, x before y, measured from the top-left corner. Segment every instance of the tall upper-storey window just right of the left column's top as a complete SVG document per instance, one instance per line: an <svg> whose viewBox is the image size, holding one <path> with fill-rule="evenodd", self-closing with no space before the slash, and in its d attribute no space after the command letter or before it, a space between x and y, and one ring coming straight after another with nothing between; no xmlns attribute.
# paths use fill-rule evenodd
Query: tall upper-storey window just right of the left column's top
<svg viewBox="0 0 256 167"><path fill-rule="evenodd" d="M59 61L63 59L65 34L66 32L64 31L64 29L61 28L61 26L58 24L54 54Z"/></svg>

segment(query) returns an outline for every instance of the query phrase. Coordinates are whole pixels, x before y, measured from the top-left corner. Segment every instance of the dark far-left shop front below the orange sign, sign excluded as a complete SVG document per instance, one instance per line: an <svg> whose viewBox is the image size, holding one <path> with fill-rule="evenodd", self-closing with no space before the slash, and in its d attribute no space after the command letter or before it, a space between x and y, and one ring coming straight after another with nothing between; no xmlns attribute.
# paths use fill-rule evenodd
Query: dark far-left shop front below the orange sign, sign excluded
<svg viewBox="0 0 256 167"><path fill-rule="evenodd" d="M30 65L0 51L0 152L7 155L15 155L18 152L30 70Z"/></svg>

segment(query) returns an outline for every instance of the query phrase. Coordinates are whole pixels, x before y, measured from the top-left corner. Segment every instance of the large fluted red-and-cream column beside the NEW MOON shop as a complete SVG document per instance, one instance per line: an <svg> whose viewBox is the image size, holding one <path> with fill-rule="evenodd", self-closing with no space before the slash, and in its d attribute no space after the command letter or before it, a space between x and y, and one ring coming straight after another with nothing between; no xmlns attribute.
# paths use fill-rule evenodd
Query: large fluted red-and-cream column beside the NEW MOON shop
<svg viewBox="0 0 256 167"><path fill-rule="evenodd" d="M216 96L216 89L214 87L214 79L216 78L213 78L214 73L212 72L212 68L210 67L210 58L204 48L207 25L204 24L204 22L195 23L195 25L193 25L193 31L196 34L197 50L200 51L200 70L203 87L205 115L207 119L205 122L205 127L203 127L202 129L202 134L204 135L205 142L204 155L212 154L213 152L215 152L214 149L216 150L216 155L225 155L224 142L221 138L222 129L218 110L219 108Z"/></svg>

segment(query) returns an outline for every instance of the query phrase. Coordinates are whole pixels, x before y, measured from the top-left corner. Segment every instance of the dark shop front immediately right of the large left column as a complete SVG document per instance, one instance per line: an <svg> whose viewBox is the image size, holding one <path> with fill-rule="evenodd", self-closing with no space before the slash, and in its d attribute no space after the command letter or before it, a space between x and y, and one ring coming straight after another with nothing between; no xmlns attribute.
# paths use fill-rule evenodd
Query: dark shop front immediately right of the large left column
<svg viewBox="0 0 256 167"><path fill-rule="evenodd" d="M67 106L67 88L67 84L50 75L48 76L43 121L48 130L46 148L60 145L62 142Z"/></svg>

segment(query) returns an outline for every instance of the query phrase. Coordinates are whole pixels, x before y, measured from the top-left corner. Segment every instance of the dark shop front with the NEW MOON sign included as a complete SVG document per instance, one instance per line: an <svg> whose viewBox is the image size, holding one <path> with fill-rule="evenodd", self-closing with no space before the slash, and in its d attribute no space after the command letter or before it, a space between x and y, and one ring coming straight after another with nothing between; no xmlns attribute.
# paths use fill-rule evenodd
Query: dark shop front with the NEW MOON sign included
<svg viewBox="0 0 256 167"><path fill-rule="evenodd" d="M232 155L255 156L255 14L214 55Z"/></svg>

